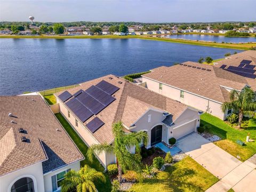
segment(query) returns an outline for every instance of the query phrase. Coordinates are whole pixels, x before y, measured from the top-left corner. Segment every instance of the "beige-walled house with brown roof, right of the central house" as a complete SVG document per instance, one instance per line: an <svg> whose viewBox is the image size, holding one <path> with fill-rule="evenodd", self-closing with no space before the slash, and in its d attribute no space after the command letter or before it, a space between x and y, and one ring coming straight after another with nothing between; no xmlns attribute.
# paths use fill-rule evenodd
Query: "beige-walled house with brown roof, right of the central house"
<svg viewBox="0 0 256 192"><path fill-rule="evenodd" d="M254 79L191 61L152 69L150 73L142 75L143 83L151 91L220 119L226 119L232 113L232 109L225 113L221 110L222 103L230 101L231 90L242 90L245 86L256 90Z"/></svg>

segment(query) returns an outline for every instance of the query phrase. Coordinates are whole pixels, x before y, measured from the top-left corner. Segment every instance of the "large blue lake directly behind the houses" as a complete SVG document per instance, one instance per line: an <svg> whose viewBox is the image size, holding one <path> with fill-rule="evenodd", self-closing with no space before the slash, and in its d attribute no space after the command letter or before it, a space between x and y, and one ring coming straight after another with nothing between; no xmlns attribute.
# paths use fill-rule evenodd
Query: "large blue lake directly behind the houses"
<svg viewBox="0 0 256 192"><path fill-rule="evenodd" d="M241 50L142 39L0 39L0 95L123 76Z"/></svg>

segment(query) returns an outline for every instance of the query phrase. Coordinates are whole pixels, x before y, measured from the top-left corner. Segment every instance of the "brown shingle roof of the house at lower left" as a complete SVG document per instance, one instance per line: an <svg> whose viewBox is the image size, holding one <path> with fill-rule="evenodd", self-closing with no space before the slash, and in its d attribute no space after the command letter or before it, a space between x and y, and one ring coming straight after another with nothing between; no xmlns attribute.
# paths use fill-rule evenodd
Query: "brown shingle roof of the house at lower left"
<svg viewBox="0 0 256 192"><path fill-rule="evenodd" d="M0 175L37 162L43 162L46 173L83 159L39 95L0 97L0 148Z"/></svg>

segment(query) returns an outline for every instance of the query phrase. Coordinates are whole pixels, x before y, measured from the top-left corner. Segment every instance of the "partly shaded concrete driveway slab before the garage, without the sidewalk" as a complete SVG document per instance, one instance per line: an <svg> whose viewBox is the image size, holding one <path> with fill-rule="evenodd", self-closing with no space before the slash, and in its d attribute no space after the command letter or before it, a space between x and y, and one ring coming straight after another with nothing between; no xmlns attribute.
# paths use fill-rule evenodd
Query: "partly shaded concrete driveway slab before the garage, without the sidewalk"
<svg viewBox="0 0 256 192"><path fill-rule="evenodd" d="M198 133L181 138L177 141L177 147L219 179L242 164L237 158L203 138Z"/></svg>

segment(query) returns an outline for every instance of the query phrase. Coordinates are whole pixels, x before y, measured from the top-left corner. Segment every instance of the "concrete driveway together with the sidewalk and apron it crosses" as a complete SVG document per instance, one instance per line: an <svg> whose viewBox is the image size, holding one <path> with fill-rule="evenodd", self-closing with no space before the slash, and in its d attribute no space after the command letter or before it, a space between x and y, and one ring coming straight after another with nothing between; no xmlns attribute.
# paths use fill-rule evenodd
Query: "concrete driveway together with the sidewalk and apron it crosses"
<svg viewBox="0 0 256 192"><path fill-rule="evenodd" d="M242 163L197 133L182 138L177 146L220 179L207 192L256 189L256 154Z"/></svg>

